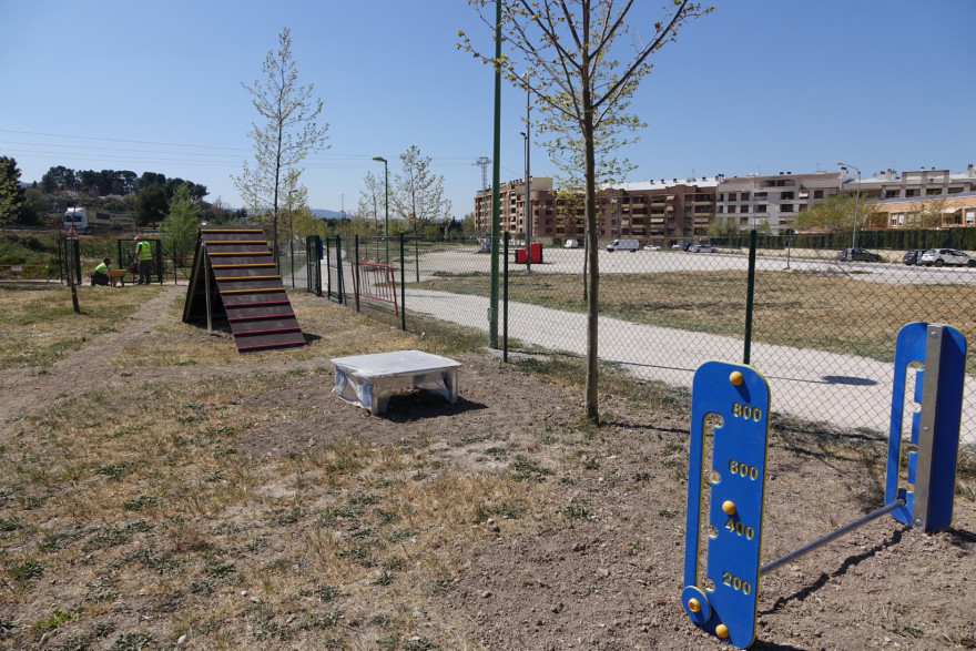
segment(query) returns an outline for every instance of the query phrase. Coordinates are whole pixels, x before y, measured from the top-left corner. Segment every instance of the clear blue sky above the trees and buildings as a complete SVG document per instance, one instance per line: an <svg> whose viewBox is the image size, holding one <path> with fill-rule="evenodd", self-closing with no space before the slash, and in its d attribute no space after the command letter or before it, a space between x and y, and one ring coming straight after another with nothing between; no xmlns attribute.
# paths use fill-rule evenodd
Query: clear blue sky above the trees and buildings
<svg viewBox="0 0 976 651"><path fill-rule="evenodd" d="M976 163L976 1L716 6L654 55L629 181ZM24 181L53 165L161 172L241 205L231 176L257 119L241 84L283 27L329 124L331 149L302 177L312 207L355 210L363 176L383 174L373 156L393 177L416 144L461 217L481 185L475 160L492 154L491 70L455 48L464 29L491 51L491 32L464 0L0 0L0 155ZM507 181L523 175L525 95L502 93ZM533 148L532 174L552 172Z"/></svg>

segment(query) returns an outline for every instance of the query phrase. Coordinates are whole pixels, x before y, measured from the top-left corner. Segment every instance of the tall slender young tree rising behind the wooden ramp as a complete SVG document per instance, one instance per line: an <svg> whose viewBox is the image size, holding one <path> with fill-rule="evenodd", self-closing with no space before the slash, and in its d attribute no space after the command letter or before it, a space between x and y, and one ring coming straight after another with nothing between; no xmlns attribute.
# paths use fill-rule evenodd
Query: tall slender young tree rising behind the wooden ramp
<svg viewBox="0 0 976 651"><path fill-rule="evenodd" d="M247 135L254 143L254 167L244 162L244 172L234 177L247 205L255 214L265 213L272 227L275 260L278 251L278 224L282 202L286 199L283 182L303 170L298 166L309 152L326 149L328 124L318 125L323 102L312 99L314 84L298 84L298 69L292 58L292 33L284 28L277 50L270 50L261 67L263 80L242 85L264 124L252 124Z"/></svg>

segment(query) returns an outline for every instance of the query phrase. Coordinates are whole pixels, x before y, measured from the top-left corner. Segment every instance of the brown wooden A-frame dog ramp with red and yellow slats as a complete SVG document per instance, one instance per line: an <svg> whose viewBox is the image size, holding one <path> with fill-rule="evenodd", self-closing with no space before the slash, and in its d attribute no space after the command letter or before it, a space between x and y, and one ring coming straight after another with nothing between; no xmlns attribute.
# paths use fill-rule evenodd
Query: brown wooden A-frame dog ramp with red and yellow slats
<svg viewBox="0 0 976 651"><path fill-rule="evenodd" d="M183 322L207 319L227 322L238 353L305 345L261 228L201 228Z"/></svg>

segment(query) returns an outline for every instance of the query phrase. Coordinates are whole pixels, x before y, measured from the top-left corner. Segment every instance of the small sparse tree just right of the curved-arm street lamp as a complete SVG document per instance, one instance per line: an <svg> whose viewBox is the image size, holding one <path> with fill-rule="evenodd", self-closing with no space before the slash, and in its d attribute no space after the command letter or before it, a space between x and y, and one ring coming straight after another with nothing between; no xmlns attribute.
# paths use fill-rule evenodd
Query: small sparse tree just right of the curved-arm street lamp
<svg viewBox="0 0 976 651"><path fill-rule="evenodd" d="M394 175L389 193L392 210L414 235L423 235L426 227L445 218L450 202L444 200L444 176L430 171L430 156L410 145L400 154L403 172Z"/></svg>

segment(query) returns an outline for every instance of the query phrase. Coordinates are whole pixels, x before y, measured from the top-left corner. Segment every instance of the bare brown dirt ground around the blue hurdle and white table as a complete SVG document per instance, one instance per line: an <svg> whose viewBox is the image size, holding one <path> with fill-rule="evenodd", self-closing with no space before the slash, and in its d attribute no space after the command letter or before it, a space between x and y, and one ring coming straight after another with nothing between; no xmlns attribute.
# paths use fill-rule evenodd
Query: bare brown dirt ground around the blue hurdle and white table
<svg viewBox="0 0 976 651"><path fill-rule="evenodd" d="M247 374L247 365L130 369L121 350L151 336L181 289L148 302L120 332L100 336L49 373L6 369L0 378L0 441L16 444L20 418L101 382L200 380ZM347 308L317 299L315 316L295 299L308 335ZM322 319L322 321L317 321ZM187 337L206 338L202 332ZM228 338L212 339L232 346ZM309 346L315 347L315 342ZM263 370L328 368L327 349L306 359L267 357ZM447 405L417 394L395 396L370 416L329 394L327 374L299 376L256 406L284 408L286 424L256 427L233 443L254 462L307 452L342 440L425 445L444 467L511 472L528 464L552 512L471 522L474 543L441 589L424 596L423 640L404 649L719 649L685 616L684 559L688 416L603 396L603 425L581 425L581 390L504 365L487 350L458 356L460 399ZM255 406L252 405L252 406ZM328 408L309 408L327 405ZM568 443L582 431L587 445ZM22 434L22 433L21 433ZM825 440L775 424L769 455L763 559L782 553L881 506L883 455L877 441ZM491 441L508 454L491 454ZM516 455L515 451L518 451ZM449 545L450 541L447 541ZM913 531L883 517L765 577L754 649L976 648L976 511L959 497L952 528ZM375 604L377 611L384 604ZM27 617L0 607L8 620ZM165 632L165 614L160 616ZM418 624L419 627L420 624ZM165 635L163 635L164 638ZM57 640L57 638L52 638ZM187 648L207 648L193 640ZM236 648L317 648L240 640ZM350 644L377 648L375 643ZM41 641L37 648L58 648ZM101 647L98 647L101 648ZM324 648L324 647L323 647Z"/></svg>

